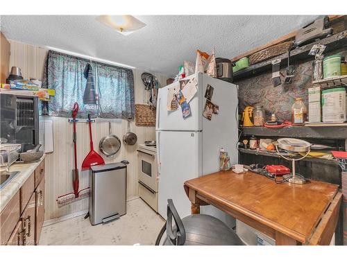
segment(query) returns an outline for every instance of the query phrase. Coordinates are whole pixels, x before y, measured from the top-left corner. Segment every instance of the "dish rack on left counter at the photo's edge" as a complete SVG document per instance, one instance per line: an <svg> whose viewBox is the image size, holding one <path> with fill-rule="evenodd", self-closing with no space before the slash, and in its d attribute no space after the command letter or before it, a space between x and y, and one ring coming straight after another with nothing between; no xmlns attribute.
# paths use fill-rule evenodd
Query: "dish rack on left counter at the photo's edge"
<svg viewBox="0 0 347 260"><path fill-rule="evenodd" d="M0 144L0 171L8 171L8 168L17 161L22 144Z"/></svg>

